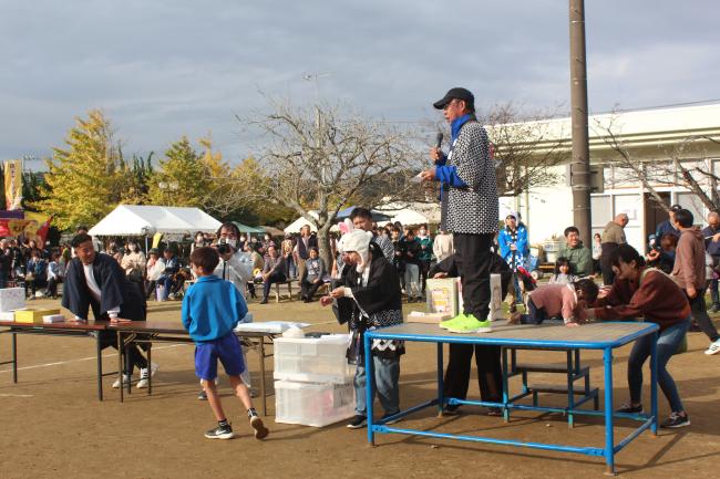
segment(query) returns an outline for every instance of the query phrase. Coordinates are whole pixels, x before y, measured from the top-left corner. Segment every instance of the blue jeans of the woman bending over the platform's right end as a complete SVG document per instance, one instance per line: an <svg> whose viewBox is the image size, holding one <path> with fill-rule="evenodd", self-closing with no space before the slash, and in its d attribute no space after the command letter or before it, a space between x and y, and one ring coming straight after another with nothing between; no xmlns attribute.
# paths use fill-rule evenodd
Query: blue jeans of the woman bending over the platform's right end
<svg viewBox="0 0 720 479"><path fill-rule="evenodd" d="M662 394L670 403L670 408L673 413L685 410L678 388L670 373L668 373L667 365L670 357L678 351L678 346L682 342L688 329L690 327L690 319L675 324L658 337L658 384L662 389ZM652 336L642 336L635 342L630 357L628 358L627 381L630 387L630 400L634 404L639 404L642 398L642 365L650 356L650 346L652 344Z"/></svg>

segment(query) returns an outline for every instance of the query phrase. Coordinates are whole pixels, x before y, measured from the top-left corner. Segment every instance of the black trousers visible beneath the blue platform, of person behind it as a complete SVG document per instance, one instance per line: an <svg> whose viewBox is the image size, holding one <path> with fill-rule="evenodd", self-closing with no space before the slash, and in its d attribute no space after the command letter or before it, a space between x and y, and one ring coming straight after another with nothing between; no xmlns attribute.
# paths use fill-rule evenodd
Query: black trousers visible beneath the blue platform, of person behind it
<svg viewBox="0 0 720 479"><path fill-rule="evenodd" d="M500 364L500 346L479 344L450 344L450 361L445 371L444 395L457 399L467 398L470 368L475 353L477 383L482 400L502 403L503 375Z"/></svg>

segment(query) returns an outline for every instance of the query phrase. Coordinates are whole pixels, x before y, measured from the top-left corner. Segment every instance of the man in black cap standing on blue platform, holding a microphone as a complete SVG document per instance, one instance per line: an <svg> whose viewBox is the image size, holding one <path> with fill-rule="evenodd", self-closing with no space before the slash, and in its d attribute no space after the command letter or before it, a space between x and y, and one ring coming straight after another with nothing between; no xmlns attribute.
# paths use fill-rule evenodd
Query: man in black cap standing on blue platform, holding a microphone
<svg viewBox="0 0 720 479"><path fill-rule="evenodd" d="M430 156L436 166L421 174L425 181L440 181L442 195L448 195L442 222L453 233L464 311L443 327L457 333L492 331L487 314L491 246L498 218L497 181L487 133L477 123L474 103L470 91L456 87L433 104L450 123L452 143L448 156L433 148Z"/></svg>

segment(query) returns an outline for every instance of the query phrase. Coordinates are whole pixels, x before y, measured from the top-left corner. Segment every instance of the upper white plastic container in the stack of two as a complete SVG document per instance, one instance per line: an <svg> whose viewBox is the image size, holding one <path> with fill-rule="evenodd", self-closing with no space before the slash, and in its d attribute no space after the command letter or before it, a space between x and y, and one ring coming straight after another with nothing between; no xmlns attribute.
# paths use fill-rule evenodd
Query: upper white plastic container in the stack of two
<svg viewBox="0 0 720 479"><path fill-rule="evenodd" d="M344 384L354 374L348 364L348 334L320 337L276 337L272 341L275 378Z"/></svg>

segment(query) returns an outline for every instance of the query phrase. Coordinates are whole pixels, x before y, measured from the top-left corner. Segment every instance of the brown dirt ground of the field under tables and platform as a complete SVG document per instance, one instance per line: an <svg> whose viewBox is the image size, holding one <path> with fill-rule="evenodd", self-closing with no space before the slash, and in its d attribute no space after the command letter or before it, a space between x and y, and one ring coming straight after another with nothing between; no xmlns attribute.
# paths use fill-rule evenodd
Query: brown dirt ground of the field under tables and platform
<svg viewBox="0 0 720 479"><path fill-rule="evenodd" d="M35 304L56 304L38 300ZM421 305L405 305L405 313ZM256 321L289 320L311 323L309 331L341 332L327 309L299 301L260 305L250 303ZM179 321L179 303L150 303L151 319ZM74 337L18 336L19 383L12 384L9 365L0 366L0 479L6 478L577 478L600 477L603 458L490 446L433 438L378 435L377 447L367 444L367 430L348 430L344 423L321 429L276 424L274 398L268 402L269 438L251 437L244 412L220 383L228 418L238 438L208 440L204 430L214 425L209 406L197 400L192 345L158 344L153 361L161 366L153 395L133 392L124 404L105 378L105 400L95 392L94 342ZM619 477L704 477L717 470L720 458L720 356L702 354L708 341L689 334L688 353L670 363L692 425L642 434L616 456ZM434 346L411 344L402 358L403 407L433 397ZM625 379L628 347L616 357L616 406L627 399ZM533 361L562 362L553 353L535 353ZM0 335L0 362L10 357L10 335ZM523 356L528 357L528 356ZM114 350L103 355L106 371L115 371ZM248 355L256 373L255 354ZM593 384L601 385L601 357L584 352ZM271 367L269 367L271 369ZM646 369L647 371L647 369ZM542 375L541 375L542 376ZM470 396L477 397L471 382ZM533 376L535 377L535 376ZM254 382L257 385L257 374ZM271 372L268 372L271 381ZM556 379L557 381L557 379ZM517 391L517 383L511 388ZM649 406L649 398L645 403ZM542 404L562 405L547 397ZM461 416L436 418L425 409L401 423L408 428L482 434L525 441L601 447L604 429L596 419L579 418L568 429L559 415L515 413L508 424L466 408ZM660 397L660 416L668 414ZM616 441L629 429L616 428Z"/></svg>

